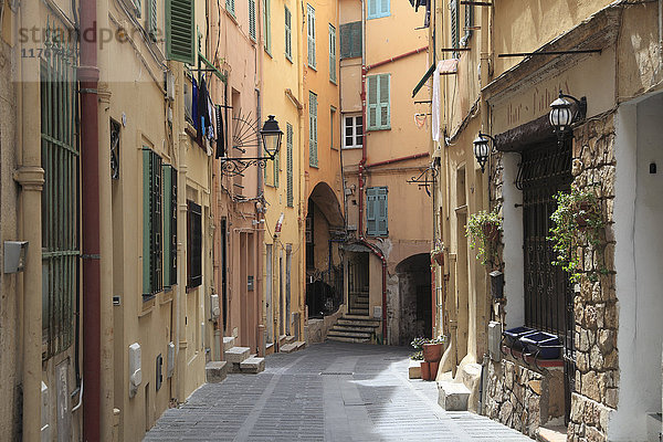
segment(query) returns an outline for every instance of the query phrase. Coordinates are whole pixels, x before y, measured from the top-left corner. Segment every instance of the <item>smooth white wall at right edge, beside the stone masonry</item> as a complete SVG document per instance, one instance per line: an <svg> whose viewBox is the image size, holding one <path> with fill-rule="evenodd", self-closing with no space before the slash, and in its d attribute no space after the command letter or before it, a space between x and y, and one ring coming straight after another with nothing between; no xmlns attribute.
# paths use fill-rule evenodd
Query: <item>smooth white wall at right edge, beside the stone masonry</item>
<svg viewBox="0 0 663 442"><path fill-rule="evenodd" d="M663 338L663 94L622 105L615 123L614 232L620 390L611 441L646 439L661 411ZM650 173L650 164L657 166Z"/></svg>

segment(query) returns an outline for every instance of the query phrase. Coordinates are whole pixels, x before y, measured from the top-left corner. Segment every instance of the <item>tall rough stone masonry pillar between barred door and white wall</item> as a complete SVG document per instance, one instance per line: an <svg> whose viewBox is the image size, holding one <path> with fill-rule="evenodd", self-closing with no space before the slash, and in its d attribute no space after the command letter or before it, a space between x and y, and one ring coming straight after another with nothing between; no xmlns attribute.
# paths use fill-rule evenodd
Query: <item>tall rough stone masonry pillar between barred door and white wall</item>
<svg viewBox="0 0 663 442"><path fill-rule="evenodd" d="M619 387L613 114L588 122L573 135L573 186L594 189L606 220L606 235L596 250L581 250L585 275L575 297L576 392L571 396L567 440L607 441L608 419L610 411L617 409Z"/></svg>

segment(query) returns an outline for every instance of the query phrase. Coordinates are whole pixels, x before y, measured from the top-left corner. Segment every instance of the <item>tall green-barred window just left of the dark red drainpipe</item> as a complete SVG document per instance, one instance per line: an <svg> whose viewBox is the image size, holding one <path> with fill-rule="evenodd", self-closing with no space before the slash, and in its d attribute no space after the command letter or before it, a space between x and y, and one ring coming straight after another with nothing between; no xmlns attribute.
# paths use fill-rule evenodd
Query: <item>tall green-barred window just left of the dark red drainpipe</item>
<svg viewBox="0 0 663 442"><path fill-rule="evenodd" d="M50 38L46 44L52 50L44 51L40 66L44 359L72 345L81 254L75 51Z"/></svg>

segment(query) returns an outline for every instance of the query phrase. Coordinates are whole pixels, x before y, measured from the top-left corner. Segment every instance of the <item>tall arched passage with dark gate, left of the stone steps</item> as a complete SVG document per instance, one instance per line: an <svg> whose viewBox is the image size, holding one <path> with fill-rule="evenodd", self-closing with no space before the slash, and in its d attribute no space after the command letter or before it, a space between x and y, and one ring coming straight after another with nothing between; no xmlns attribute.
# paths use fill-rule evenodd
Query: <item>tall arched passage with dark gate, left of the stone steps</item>
<svg viewBox="0 0 663 442"><path fill-rule="evenodd" d="M332 314L343 304L340 241L344 218L336 193L319 182L308 197L306 215L306 305L308 317Z"/></svg>

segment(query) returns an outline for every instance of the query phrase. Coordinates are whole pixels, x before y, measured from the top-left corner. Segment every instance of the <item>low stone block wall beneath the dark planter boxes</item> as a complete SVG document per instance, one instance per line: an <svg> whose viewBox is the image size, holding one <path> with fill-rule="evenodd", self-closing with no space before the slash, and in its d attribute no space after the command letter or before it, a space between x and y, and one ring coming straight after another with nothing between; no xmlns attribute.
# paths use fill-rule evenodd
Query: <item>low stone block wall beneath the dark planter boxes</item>
<svg viewBox="0 0 663 442"><path fill-rule="evenodd" d="M488 362L485 414L536 438L538 428L564 415L564 370L538 370L511 357Z"/></svg>

